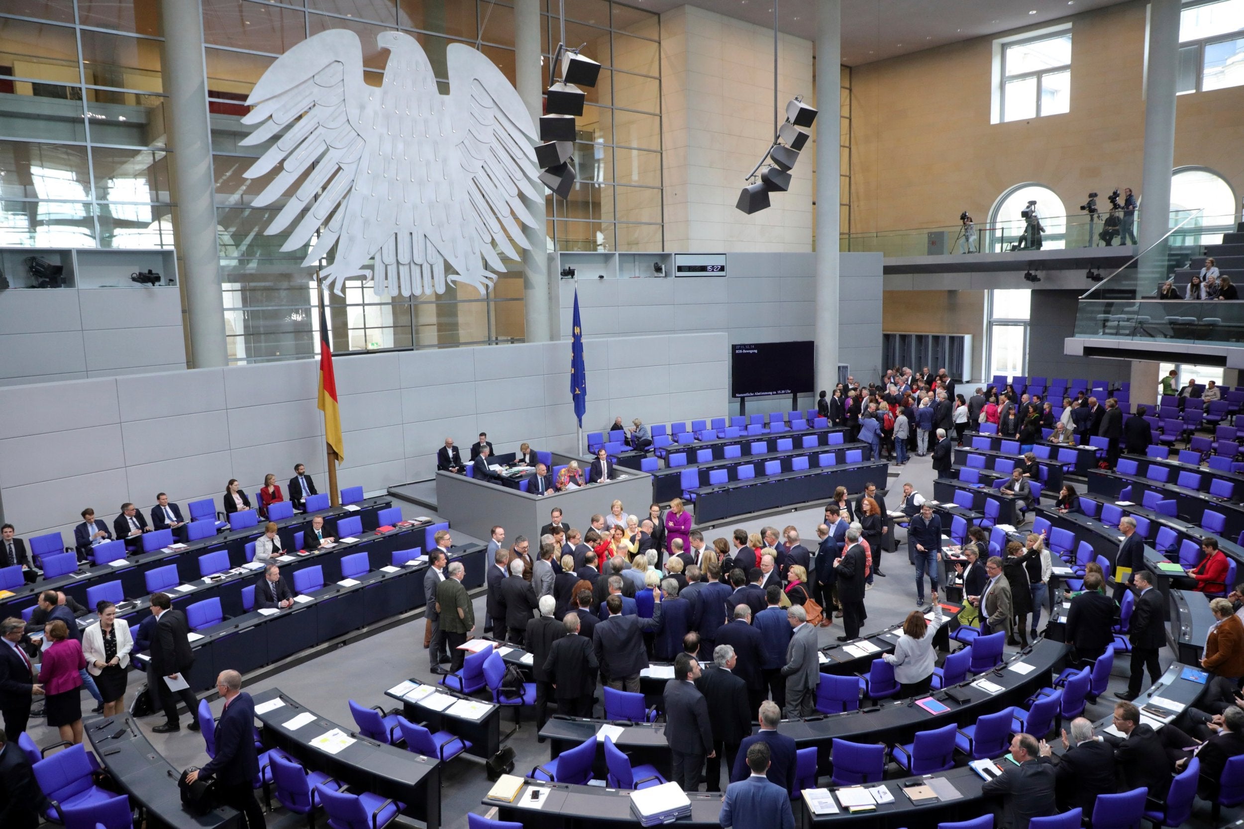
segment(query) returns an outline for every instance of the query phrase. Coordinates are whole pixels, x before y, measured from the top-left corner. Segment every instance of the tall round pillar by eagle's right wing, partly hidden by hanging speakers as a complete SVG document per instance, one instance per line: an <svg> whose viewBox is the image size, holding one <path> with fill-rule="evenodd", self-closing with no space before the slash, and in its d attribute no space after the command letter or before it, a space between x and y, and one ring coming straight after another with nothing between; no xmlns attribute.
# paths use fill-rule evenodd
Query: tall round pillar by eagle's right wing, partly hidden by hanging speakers
<svg viewBox="0 0 1244 829"><path fill-rule="evenodd" d="M576 44L577 46L577 44ZM515 0L514 4L515 87L527 104L531 121L540 123L544 114L545 77L547 67L540 60L540 0ZM542 191L544 185L536 184ZM547 220L544 199L522 199L522 205L536 220L535 227L524 227L529 250L522 251L522 317L529 343L546 343L552 337L551 288L549 287Z"/></svg>

